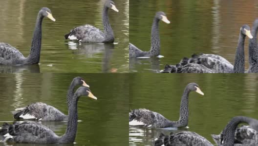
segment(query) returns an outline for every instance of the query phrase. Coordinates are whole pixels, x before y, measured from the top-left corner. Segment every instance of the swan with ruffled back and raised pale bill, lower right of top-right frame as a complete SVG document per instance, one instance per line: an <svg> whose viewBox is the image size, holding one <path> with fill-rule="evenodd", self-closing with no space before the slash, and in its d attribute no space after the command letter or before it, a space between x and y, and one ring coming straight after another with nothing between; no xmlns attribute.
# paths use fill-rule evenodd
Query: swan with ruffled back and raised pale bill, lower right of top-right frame
<svg viewBox="0 0 258 146"><path fill-rule="evenodd" d="M160 73L244 73L244 40L246 36L253 38L250 27L243 25L240 28L234 66L220 55L194 54L191 58L183 58L177 65L181 72L174 72L178 69L172 68L170 70L169 66L166 65Z"/></svg>

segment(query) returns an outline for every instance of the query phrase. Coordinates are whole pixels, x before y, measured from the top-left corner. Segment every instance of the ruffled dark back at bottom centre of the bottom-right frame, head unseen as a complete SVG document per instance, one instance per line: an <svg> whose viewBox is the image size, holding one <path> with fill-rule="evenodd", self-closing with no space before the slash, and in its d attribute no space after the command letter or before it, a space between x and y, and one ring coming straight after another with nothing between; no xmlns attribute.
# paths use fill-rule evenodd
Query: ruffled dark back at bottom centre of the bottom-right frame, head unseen
<svg viewBox="0 0 258 146"><path fill-rule="evenodd" d="M160 134L154 146L213 146L207 139L195 132L180 131L170 136Z"/></svg>

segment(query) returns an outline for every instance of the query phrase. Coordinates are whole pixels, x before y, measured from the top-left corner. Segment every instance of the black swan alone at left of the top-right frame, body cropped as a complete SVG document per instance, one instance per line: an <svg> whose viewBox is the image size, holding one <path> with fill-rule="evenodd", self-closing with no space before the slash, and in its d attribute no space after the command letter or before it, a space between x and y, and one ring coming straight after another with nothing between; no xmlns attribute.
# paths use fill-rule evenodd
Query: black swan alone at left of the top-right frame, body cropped
<svg viewBox="0 0 258 146"><path fill-rule="evenodd" d="M151 27L151 50L141 51L133 44L129 43L129 58L136 57L153 57L160 54L160 37L159 37L159 21L162 20L165 23L170 23L166 14L164 12L157 12L152 23Z"/></svg>

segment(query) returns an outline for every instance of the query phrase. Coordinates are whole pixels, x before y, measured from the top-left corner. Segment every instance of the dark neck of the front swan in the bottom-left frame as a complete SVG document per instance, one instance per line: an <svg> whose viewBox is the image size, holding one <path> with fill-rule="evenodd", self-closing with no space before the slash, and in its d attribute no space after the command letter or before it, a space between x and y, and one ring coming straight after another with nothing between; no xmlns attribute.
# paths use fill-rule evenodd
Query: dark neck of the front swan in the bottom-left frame
<svg viewBox="0 0 258 146"><path fill-rule="evenodd" d="M69 107L67 128L64 135L59 139L59 143L72 143L75 140L78 121L77 103L78 97L74 97Z"/></svg>

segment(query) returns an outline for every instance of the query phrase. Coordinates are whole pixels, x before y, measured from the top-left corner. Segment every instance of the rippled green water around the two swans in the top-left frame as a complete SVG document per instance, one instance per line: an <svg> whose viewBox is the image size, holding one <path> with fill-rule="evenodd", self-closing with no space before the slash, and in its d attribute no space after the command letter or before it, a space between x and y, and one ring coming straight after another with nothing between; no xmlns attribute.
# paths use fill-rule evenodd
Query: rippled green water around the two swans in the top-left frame
<svg viewBox="0 0 258 146"><path fill-rule="evenodd" d="M0 72L125 73L128 72L129 0L113 0L119 12L109 10L114 44L82 44L64 40L72 28L91 24L103 30L105 0L0 0L0 42L11 44L27 56L36 17L42 7L51 9L56 22L43 20L40 65L0 67ZM6 72L5 72L6 71Z"/></svg>

